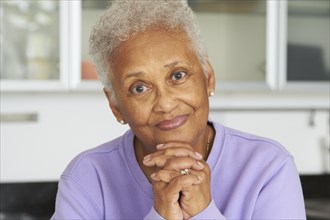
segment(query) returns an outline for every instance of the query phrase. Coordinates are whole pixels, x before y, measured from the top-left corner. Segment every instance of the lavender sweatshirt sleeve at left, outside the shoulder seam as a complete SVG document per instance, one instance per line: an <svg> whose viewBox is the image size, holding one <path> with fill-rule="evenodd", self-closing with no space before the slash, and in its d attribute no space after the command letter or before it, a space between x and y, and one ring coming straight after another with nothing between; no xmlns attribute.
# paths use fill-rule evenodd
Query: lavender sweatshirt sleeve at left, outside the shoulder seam
<svg viewBox="0 0 330 220"><path fill-rule="evenodd" d="M61 176L56 196L55 219L103 219L92 197L79 183L68 176Z"/></svg>

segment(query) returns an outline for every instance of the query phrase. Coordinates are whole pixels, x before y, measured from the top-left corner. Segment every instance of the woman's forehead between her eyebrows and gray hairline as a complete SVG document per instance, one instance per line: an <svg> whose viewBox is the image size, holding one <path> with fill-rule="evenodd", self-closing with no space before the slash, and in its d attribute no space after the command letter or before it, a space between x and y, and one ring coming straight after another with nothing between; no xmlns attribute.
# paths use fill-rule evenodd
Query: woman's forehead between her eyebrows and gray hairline
<svg viewBox="0 0 330 220"><path fill-rule="evenodd" d="M175 61L196 63L186 34L180 30L148 30L121 43L110 60L114 73L132 68L166 65ZM116 75L116 74L115 74Z"/></svg>

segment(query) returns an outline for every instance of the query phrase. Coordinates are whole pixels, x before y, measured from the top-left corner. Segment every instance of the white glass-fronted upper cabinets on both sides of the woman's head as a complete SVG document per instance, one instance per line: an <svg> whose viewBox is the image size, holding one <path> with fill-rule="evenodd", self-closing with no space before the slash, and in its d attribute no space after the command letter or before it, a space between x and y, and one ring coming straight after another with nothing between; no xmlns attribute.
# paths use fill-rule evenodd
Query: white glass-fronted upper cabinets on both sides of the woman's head
<svg viewBox="0 0 330 220"><path fill-rule="evenodd" d="M88 39L108 4L1 1L1 90L101 89L88 56ZM188 0L188 4L200 23L218 90L327 91L328 1ZM319 55L314 55L317 47Z"/></svg>

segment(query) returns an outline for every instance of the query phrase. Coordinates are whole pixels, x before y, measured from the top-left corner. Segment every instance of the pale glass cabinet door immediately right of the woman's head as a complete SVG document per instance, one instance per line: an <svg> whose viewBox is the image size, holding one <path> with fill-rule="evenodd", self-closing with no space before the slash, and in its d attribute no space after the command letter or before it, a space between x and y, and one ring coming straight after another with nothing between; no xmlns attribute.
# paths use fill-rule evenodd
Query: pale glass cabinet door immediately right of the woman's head
<svg viewBox="0 0 330 220"><path fill-rule="evenodd" d="M220 90L268 90L267 1L189 0Z"/></svg>

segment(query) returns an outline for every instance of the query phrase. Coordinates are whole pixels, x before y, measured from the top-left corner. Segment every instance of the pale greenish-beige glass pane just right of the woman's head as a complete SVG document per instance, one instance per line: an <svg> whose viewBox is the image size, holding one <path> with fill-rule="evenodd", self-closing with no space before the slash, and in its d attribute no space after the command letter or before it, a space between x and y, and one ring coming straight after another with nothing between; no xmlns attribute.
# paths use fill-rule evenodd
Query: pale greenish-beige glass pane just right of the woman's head
<svg viewBox="0 0 330 220"><path fill-rule="evenodd" d="M218 80L265 79L265 16L199 13L197 18Z"/></svg>

